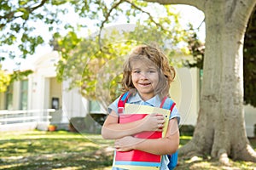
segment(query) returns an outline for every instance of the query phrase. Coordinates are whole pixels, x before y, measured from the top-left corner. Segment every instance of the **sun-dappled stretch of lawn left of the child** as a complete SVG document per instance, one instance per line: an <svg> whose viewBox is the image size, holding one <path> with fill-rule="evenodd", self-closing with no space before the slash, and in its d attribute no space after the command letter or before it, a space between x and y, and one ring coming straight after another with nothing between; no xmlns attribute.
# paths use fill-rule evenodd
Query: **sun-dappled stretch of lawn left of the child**
<svg viewBox="0 0 256 170"><path fill-rule="evenodd" d="M0 169L102 169L113 156L79 133L3 133Z"/></svg>

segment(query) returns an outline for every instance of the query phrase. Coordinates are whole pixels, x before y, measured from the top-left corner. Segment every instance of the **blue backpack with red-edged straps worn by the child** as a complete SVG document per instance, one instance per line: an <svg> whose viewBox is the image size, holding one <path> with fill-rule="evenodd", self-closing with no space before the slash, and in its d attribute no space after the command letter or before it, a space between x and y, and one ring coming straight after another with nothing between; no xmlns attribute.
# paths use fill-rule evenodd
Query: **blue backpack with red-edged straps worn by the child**
<svg viewBox="0 0 256 170"><path fill-rule="evenodd" d="M119 102L118 102L118 113L123 113L125 110L125 103L127 102L127 100L129 99L131 93L126 92L125 94L122 94ZM160 105L160 108L166 109L166 110L170 110L172 113L172 109L175 106L175 102L172 101L172 99L165 97ZM177 166L177 156L178 156L178 150L173 153L172 155L167 155L168 159L169 159L169 164L168 167L170 170L172 170L174 167Z"/></svg>

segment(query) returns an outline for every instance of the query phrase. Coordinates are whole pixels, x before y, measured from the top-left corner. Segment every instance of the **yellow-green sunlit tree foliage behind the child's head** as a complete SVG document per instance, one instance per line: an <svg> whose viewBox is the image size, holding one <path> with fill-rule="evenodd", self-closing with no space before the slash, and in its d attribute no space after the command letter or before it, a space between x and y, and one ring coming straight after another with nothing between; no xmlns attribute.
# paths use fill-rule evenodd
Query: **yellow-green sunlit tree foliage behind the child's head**
<svg viewBox="0 0 256 170"><path fill-rule="evenodd" d="M130 25L134 28L128 31L122 26L114 26L102 29L100 35L91 34L85 38L78 38L71 32L66 37L55 34L52 44L61 52L58 79L71 79L70 88L79 88L85 98L97 99L103 108L107 108L121 93L122 65L132 48L143 43L163 47L173 64L177 44L184 43L188 35L179 26L178 15L171 13L172 8L166 6L163 9L169 15L168 22L156 17L159 22L155 24L150 15L144 20L147 25L137 22L135 26ZM166 22L168 25L165 26Z"/></svg>

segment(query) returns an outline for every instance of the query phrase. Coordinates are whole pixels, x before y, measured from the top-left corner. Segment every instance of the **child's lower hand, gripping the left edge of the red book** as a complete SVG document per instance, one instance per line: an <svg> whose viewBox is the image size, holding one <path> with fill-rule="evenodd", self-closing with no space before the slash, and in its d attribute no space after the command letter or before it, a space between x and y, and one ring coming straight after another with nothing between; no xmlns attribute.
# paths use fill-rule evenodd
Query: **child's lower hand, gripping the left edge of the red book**
<svg viewBox="0 0 256 170"><path fill-rule="evenodd" d="M138 140L132 136L125 136L121 139L116 139L114 142L114 147L117 151L129 151L134 150L135 144Z"/></svg>

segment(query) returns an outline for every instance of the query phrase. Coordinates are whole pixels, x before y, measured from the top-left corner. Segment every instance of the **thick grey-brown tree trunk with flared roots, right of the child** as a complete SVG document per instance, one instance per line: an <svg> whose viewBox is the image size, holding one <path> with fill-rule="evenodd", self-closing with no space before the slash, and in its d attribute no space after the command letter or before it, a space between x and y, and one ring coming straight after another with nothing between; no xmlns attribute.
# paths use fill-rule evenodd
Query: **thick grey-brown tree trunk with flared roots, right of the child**
<svg viewBox="0 0 256 170"><path fill-rule="evenodd" d="M243 39L256 0L160 2L200 7L206 17L200 111L193 139L179 153L211 155L224 164L229 158L256 161L245 130L242 74Z"/></svg>

